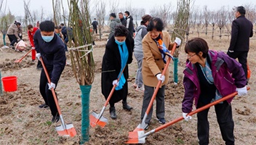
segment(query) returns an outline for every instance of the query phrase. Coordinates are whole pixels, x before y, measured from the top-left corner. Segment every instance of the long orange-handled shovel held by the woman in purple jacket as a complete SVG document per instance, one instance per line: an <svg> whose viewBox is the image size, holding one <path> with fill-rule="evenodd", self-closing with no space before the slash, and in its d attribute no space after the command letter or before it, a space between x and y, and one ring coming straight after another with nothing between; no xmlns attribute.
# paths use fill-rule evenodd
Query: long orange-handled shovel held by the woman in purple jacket
<svg viewBox="0 0 256 145"><path fill-rule="evenodd" d="M249 90L249 89L250 88L247 86L247 90ZM192 116L192 115L194 115L198 112L203 111L204 109L212 107L213 105L218 104L221 101L225 101L227 99L230 99L231 97L236 96L236 95L237 95L237 92L233 92L232 94L229 94L228 96L224 96L223 98L218 99L216 101L213 101L212 103L207 104L204 107L200 107L199 109L195 109L194 111L188 113L188 115ZM145 138L147 136L151 135L152 133L156 133L159 130L167 128L169 125L173 125L173 124L175 124L175 123L177 123L177 122L179 122L180 120L183 120L183 119L184 119L183 117L178 117L177 119L172 120L171 122L169 122L167 124L161 125L158 128L155 128L153 130L148 131L148 133L144 133L144 130L129 132L129 136L128 136L129 140L127 142L125 142L125 144L144 144L145 143Z"/></svg>

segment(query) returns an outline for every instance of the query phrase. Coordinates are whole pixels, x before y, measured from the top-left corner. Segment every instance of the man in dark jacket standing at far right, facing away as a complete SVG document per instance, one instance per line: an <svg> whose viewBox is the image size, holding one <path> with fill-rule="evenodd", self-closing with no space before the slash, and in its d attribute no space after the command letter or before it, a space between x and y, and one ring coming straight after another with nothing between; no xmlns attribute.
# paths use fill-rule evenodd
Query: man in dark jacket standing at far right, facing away
<svg viewBox="0 0 256 145"><path fill-rule="evenodd" d="M228 48L228 56L238 58L247 77L247 54L249 51L249 37L252 37L252 22L244 17L244 7L236 7L236 20L232 22L231 43Z"/></svg>

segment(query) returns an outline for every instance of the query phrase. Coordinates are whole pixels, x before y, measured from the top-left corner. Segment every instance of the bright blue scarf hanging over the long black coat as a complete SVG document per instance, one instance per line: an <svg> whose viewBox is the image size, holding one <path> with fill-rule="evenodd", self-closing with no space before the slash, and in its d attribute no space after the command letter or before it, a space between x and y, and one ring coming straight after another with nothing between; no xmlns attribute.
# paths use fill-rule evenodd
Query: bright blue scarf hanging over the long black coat
<svg viewBox="0 0 256 145"><path fill-rule="evenodd" d="M128 52L127 44L125 43L125 41L124 42L115 41L115 42L119 46L119 53L120 53L120 56L121 56L121 70L119 72L119 76L121 75L121 78L119 79L119 86L116 86L115 90L120 90L121 88L123 88L124 83L126 82L126 80L124 78L124 73L121 74L121 71L127 65L129 52ZM121 46L123 47L123 49L121 48Z"/></svg>

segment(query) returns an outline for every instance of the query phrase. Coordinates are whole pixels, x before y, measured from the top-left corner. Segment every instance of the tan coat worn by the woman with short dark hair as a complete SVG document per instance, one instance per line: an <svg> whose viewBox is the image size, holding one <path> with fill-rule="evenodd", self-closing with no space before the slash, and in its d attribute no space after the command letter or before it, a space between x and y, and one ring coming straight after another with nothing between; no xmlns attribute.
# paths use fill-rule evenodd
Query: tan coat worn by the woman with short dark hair
<svg viewBox="0 0 256 145"><path fill-rule="evenodd" d="M162 39L165 46L169 50L172 50L174 43L171 43L171 38L167 31L162 31ZM143 83L145 86L156 87L159 80L157 80L156 75L161 73L164 70L164 61L161 57L161 52L159 51L156 42L153 41L149 33L143 38ZM166 57L166 60L168 58ZM166 85L169 80L169 69L165 73L164 83L161 83L161 86Z"/></svg>

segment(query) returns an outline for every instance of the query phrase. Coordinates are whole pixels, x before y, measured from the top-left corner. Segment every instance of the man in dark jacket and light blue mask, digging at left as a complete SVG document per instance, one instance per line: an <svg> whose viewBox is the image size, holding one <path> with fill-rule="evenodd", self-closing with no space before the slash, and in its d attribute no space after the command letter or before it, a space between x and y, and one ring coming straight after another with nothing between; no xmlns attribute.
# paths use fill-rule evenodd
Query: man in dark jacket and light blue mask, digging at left
<svg viewBox="0 0 256 145"><path fill-rule="evenodd" d="M65 45L61 38L55 34L55 23L49 20L40 23L39 30L36 30L33 36L33 43L36 47L36 58L40 60L41 57L43 59L51 79L49 84L44 70L41 70L39 90L43 96L44 104L39 107L49 107L52 113L52 123L57 123L60 116L57 113L51 88L56 88L65 67Z"/></svg>

